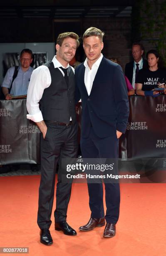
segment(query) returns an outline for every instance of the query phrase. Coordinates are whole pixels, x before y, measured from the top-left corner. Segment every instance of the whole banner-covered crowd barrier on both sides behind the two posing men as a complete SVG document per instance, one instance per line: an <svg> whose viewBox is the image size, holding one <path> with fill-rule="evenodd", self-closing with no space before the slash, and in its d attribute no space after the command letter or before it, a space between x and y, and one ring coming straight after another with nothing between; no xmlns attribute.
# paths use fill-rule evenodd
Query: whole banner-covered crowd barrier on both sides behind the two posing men
<svg viewBox="0 0 166 256"><path fill-rule="evenodd" d="M77 104L80 139L81 103ZM166 159L166 96L129 97L130 115L119 140L122 160ZM40 130L26 118L26 100L0 100L0 165L40 164Z"/></svg>

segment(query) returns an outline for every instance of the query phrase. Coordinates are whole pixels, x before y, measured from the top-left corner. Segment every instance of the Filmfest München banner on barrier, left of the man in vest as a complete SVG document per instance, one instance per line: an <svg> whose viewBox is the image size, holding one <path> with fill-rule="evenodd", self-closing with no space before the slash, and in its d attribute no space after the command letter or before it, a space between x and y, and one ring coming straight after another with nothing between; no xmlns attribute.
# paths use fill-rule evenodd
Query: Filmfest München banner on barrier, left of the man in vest
<svg viewBox="0 0 166 256"><path fill-rule="evenodd" d="M40 163L40 130L27 119L26 99L0 100L0 164Z"/></svg>

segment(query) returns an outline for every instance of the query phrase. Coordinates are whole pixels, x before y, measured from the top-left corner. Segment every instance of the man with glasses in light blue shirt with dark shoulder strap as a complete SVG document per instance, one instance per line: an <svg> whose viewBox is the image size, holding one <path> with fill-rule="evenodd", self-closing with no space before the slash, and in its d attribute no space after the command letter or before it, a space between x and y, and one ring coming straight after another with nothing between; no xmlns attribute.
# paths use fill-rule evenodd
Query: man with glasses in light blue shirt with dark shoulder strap
<svg viewBox="0 0 166 256"><path fill-rule="evenodd" d="M11 100L12 96L27 95L27 89L33 68L32 51L23 49L20 53L20 66L11 67L7 70L5 78L2 82L2 92L5 100Z"/></svg>

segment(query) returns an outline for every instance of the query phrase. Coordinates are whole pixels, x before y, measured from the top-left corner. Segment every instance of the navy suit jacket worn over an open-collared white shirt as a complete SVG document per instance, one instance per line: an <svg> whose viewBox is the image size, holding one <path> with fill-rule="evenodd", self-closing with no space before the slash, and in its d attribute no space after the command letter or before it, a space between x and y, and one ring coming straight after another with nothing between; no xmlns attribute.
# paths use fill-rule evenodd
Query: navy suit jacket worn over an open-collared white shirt
<svg viewBox="0 0 166 256"><path fill-rule="evenodd" d="M121 67L104 58L94 78L90 95L84 84L84 63L75 70L76 102L82 100L82 137L87 138L91 124L100 138L125 133L129 116L129 99Z"/></svg>

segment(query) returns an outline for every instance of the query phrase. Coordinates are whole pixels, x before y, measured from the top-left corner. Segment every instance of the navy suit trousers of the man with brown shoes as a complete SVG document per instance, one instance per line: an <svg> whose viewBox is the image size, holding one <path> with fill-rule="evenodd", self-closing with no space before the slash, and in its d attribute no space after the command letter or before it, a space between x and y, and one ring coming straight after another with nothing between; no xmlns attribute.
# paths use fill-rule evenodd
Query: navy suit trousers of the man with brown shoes
<svg viewBox="0 0 166 256"><path fill-rule="evenodd" d="M89 137L81 138L81 151L83 159L112 159L114 163L116 163L116 170L114 171L114 174L117 174L118 143L119 140L117 139L116 133L107 138L99 138L94 133L93 128L91 128ZM102 174L105 173L103 172ZM105 185L105 199L107 207L105 219L107 223L116 224L119 218L120 206L119 182L116 180L116 183L113 183L110 181L110 179L103 179L103 181ZM103 184L102 182L96 182L95 179L92 181L87 179L87 182L91 217L103 218Z"/></svg>

